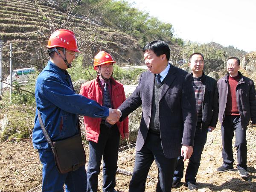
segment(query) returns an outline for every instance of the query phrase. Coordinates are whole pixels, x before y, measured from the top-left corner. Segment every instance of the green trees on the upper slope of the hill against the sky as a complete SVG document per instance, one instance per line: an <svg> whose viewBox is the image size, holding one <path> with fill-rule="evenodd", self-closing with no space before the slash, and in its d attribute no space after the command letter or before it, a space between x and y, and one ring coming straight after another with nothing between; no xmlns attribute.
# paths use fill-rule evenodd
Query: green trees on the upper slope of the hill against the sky
<svg viewBox="0 0 256 192"><path fill-rule="evenodd" d="M58 0L63 9L67 9L69 0ZM160 39L175 41L173 39L172 24L164 23L156 17L150 17L148 13L132 8L125 0L81 0L74 10L83 13L93 10L104 26L118 29L129 35L133 35L143 47L148 41ZM183 41L179 39L178 44Z"/></svg>

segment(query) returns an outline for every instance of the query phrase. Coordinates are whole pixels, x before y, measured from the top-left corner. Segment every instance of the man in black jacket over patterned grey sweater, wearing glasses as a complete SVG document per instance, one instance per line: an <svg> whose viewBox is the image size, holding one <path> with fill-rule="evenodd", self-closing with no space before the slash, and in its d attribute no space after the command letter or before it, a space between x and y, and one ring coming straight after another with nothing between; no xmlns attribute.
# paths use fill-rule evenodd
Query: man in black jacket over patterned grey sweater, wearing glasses
<svg viewBox="0 0 256 192"><path fill-rule="evenodd" d="M207 140L207 133L212 132L218 122L218 87L217 81L204 75L204 55L195 52L189 56L189 67L192 70L193 87L197 108L197 127L194 139L194 151L186 169L185 181L189 190L197 189L195 177L197 175L201 154ZM180 183L183 177L184 162L179 156L173 177L173 187Z"/></svg>

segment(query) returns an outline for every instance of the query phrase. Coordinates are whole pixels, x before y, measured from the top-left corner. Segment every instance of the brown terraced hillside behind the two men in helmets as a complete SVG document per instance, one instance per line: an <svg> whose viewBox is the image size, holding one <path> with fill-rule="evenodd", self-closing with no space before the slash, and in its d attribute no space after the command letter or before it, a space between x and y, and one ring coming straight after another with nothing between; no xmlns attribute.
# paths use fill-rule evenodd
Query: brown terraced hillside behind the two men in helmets
<svg viewBox="0 0 256 192"><path fill-rule="evenodd" d="M45 45L55 29L73 30L78 37L84 62L91 62L99 49L107 49L119 63L140 64L141 48L137 40L123 32L102 26L90 14L67 14L52 1L0 0L0 39L3 40L3 58L9 65L9 47L12 43L14 68L36 65L39 69L47 61ZM4 66L4 74L8 73Z"/></svg>

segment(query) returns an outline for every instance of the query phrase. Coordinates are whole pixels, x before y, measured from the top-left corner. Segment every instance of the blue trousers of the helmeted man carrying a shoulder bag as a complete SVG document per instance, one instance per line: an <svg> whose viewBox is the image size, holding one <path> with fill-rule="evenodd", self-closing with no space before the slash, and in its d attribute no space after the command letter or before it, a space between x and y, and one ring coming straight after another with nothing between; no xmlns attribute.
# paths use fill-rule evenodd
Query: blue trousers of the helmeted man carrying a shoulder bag
<svg viewBox="0 0 256 192"><path fill-rule="evenodd" d="M42 192L84 192L86 190L85 166L81 166L76 171L61 174L55 165L51 148L38 149L39 158L43 165Z"/></svg>

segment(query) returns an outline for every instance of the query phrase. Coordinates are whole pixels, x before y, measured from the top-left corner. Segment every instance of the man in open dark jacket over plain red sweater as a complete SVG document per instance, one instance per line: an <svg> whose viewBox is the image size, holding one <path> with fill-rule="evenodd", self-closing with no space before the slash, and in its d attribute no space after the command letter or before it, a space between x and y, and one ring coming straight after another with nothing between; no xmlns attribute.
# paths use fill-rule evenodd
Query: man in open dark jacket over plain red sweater
<svg viewBox="0 0 256 192"><path fill-rule="evenodd" d="M218 80L223 164L217 171L233 169L232 139L235 131L237 169L241 177L248 177L246 128L250 119L253 125L256 124L256 92L253 80L242 76L239 68L239 58L228 58L228 73Z"/></svg>

